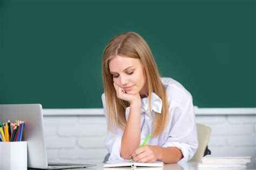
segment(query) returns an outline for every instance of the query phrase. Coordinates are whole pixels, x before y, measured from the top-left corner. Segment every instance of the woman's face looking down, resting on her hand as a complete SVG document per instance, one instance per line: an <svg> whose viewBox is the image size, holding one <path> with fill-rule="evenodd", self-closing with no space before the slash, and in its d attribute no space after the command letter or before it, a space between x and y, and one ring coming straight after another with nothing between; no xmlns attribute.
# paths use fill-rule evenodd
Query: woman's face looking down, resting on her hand
<svg viewBox="0 0 256 170"><path fill-rule="evenodd" d="M114 83L127 94L148 94L146 74L139 59L117 55L110 60L109 69Z"/></svg>

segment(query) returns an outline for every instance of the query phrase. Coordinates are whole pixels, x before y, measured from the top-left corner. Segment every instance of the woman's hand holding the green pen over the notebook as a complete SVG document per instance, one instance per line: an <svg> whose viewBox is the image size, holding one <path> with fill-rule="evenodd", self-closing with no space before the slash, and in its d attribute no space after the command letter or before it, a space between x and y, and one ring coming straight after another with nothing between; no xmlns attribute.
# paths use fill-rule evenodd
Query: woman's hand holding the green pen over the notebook
<svg viewBox="0 0 256 170"><path fill-rule="evenodd" d="M159 152L158 146L145 145L137 148L131 156L135 162L152 163L159 159Z"/></svg>

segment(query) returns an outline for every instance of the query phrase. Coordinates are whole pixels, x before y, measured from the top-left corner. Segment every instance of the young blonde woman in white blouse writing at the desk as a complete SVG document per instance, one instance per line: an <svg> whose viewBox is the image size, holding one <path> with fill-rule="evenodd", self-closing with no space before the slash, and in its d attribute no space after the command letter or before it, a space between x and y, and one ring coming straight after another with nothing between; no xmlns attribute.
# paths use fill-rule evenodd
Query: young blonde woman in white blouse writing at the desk
<svg viewBox="0 0 256 170"><path fill-rule="evenodd" d="M159 77L142 37L114 37L104 50L102 71L109 160L170 164L193 157L198 138L192 96L179 82ZM139 147L149 133L152 138Z"/></svg>

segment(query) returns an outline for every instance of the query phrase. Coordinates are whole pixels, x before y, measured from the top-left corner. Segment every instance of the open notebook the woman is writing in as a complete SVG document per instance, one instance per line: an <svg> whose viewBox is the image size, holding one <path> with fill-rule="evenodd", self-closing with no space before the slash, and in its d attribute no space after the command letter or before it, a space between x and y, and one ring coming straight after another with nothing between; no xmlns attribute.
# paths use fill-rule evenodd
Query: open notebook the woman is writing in
<svg viewBox="0 0 256 170"><path fill-rule="evenodd" d="M135 168L137 166L142 167L164 167L164 163L162 161L156 161L153 163L140 163L140 162L130 162L129 159L124 160L112 160L107 161L106 164L104 164L104 168L111 168L111 167L125 167L130 166L132 168Z"/></svg>

